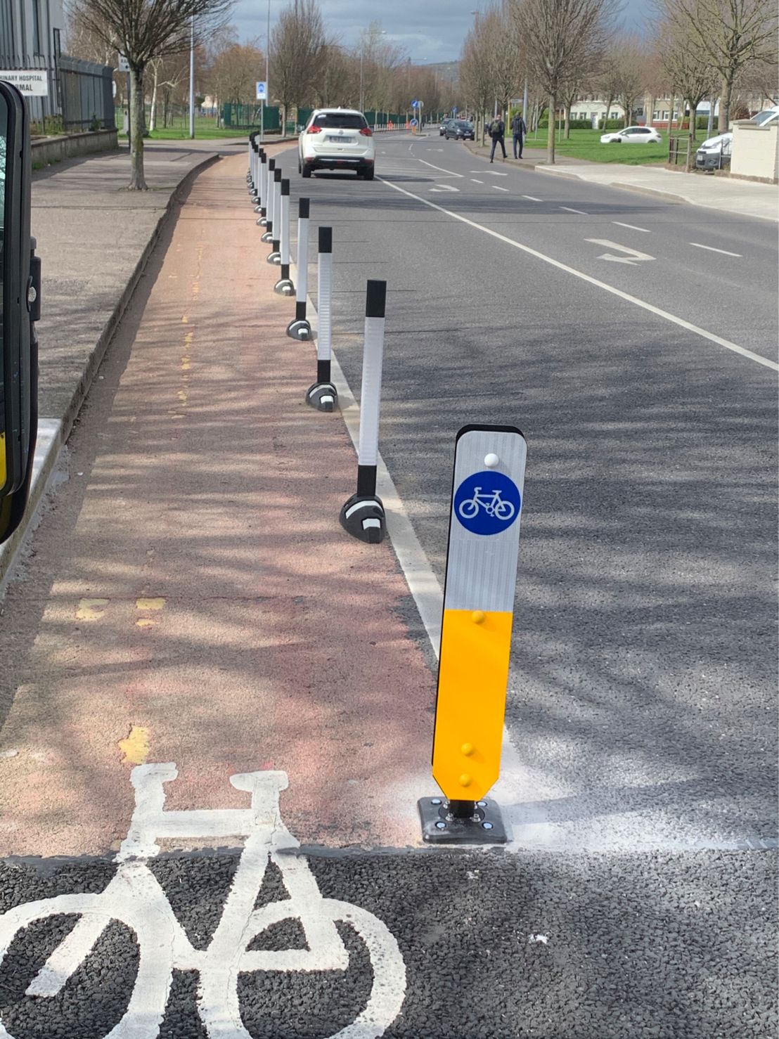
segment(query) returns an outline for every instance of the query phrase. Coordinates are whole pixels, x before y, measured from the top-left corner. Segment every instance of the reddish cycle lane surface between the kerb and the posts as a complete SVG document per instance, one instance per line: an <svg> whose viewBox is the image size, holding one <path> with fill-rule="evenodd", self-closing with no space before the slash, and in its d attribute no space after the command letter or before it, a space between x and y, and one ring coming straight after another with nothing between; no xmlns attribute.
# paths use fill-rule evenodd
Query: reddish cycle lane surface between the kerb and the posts
<svg viewBox="0 0 779 1039"><path fill-rule="evenodd" d="M434 676L391 547L339 526L356 460L304 403L245 165L204 171L158 246L9 586L0 856L115 849L142 762L176 763L166 807L283 769L301 842L419 844Z"/></svg>

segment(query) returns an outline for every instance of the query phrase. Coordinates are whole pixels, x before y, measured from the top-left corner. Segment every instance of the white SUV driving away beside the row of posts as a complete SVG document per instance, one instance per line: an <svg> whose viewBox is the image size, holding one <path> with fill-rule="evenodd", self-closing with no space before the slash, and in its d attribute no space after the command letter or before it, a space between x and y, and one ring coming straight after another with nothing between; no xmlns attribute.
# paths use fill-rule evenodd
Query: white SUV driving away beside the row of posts
<svg viewBox="0 0 779 1039"><path fill-rule="evenodd" d="M373 180L376 141L362 114L352 108L315 108L298 137L298 172L354 169Z"/></svg>

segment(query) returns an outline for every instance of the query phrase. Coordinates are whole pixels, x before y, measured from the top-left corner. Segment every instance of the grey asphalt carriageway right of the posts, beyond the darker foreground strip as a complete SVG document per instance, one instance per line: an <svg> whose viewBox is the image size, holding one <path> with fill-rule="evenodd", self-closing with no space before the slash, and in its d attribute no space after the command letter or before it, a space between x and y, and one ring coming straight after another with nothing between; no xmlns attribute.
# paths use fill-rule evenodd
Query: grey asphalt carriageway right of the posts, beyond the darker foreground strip
<svg viewBox="0 0 779 1039"><path fill-rule="evenodd" d="M365 281L388 283L380 449L439 578L456 430L528 438L519 843L774 845L776 376L757 358L776 353L775 229L435 137L380 140L373 183L280 161L333 227L355 394Z"/></svg>

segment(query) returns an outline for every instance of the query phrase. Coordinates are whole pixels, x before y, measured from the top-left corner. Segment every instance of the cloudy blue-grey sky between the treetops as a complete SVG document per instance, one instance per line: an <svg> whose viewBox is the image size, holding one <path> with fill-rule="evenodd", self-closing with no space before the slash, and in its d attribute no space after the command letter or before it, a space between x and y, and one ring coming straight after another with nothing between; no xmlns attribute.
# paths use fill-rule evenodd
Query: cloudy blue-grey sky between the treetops
<svg viewBox="0 0 779 1039"><path fill-rule="evenodd" d="M290 0L270 0L271 31L279 11ZM381 22L387 39L401 48L414 64L455 61L473 24L473 11L485 9L487 0L319 0L325 31L349 47L372 21ZM642 0L624 0L622 22L628 30L642 26ZM233 24L241 41L258 39L265 47L268 0L236 0Z"/></svg>

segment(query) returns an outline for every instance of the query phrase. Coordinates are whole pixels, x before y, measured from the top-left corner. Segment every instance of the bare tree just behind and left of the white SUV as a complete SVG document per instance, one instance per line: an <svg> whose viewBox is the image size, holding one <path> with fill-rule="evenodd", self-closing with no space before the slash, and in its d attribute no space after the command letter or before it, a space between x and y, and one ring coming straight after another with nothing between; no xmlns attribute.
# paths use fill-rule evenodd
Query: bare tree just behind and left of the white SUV
<svg viewBox="0 0 779 1039"><path fill-rule="evenodd" d="M271 34L271 83L283 125L293 108L313 101L325 57L325 34L317 0L292 0Z"/></svg>

